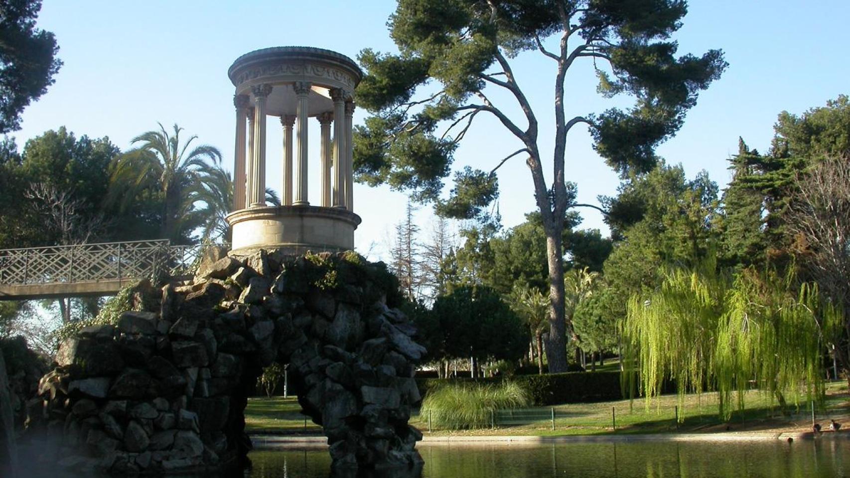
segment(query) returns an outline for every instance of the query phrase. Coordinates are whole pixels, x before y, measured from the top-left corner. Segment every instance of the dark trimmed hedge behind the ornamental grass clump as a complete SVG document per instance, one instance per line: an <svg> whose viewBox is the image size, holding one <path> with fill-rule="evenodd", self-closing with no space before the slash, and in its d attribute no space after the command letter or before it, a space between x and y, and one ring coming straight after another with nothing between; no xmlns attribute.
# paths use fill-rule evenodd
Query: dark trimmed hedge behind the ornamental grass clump
<svg viewBox="0 0 850 478"><path fill-rule="evenodd" d="M416 378L419 393L428 394L434 386L448 383L479 382L499 383L501 377L492 379L426 379ZM514 375L514 383L529 391L535 405L558 403L606 402L623 398L620 387L620 372L568 372L566 374Z"/></svg>

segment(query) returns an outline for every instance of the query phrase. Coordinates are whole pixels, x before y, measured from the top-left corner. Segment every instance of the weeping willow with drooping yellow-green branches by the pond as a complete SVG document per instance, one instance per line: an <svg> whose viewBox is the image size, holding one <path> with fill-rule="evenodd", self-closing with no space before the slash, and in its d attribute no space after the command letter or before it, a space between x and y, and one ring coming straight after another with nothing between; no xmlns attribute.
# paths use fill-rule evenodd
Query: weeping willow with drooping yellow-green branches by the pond
<svg viewBox="0 0 850 478"><path fill-rule="evenodd" d="M823 396L825 335L837 312L821 306L817 286L754 269L730 275L713 261L663 277L649 297L632 296L622 323L624 363L633 364L624 386L647 407L666 380L680 407L687 393L717 391L725 419L744 408L752 384L780 405Z"/></svg>

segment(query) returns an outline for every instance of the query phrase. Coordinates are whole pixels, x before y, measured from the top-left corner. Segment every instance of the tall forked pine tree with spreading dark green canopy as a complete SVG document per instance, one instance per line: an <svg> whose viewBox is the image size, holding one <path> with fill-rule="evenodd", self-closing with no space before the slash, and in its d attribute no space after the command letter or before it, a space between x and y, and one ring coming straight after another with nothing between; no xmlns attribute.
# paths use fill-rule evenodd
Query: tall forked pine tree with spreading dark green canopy
<svg viewBox="0 0 850 478"><path fill-rule="evenodd" d="M416 200L434 202L439 213L471 218L496 198L498 168L515 156L525 160L547 237L552 301L547 353L554 372L566 369L569 327L562 312L561 238L574 204L565 164L567 134L586 125L598 154L624 175L651 169L655 146L677 132L700 90L726 68L719 50L677 56L671 37L686 12L680 0L399 0L388 22L399 52L360 52L366 75L355 99L372 115L354 133L359 181L388 183ZM531 52L553 62L555 135L548 185L540 153L541 112L531 107L512 68L514 57ZM579 112L568 119L564 78L574 62L585 59L596 65L598 92L607 98L630 95L631 108ZM521 114L494 103L494 90L507 93ZM479 115L495 117L519 149L480 160L480 169L456 172L450 198L441 200L457 145Z"/></svg>

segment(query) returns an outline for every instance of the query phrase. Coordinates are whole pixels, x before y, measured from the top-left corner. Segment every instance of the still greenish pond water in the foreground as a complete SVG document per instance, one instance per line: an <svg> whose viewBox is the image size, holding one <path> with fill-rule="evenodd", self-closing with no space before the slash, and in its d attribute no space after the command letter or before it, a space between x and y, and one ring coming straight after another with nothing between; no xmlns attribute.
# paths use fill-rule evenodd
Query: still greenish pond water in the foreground
<svg viewBox="0 0 850 478"><path fill-rule="evenodd" d="M850 441L594 442L540 445L420 445L421 471L381 478L838 478L850 477ZM847 456L847 460L845 460ZM258 450L251 478L332 475L326 449Z"/></svg>

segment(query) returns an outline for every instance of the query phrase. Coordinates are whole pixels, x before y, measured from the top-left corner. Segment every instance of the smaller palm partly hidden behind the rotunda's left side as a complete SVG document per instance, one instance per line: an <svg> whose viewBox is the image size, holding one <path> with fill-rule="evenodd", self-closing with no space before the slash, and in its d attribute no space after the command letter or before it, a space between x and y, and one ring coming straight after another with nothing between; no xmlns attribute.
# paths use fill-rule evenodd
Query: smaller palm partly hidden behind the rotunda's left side
<svg viewBox="0 0 850 478"><path fill-rule="evenodd" d="M229 243L230 227L224 217L233 207L233 178L221 164L201 166L196 173L198 181L190 191L189 200L192 204L201 203L201 208L193 211L200 219L201 241L224 239ZM266 188L266 202L280 205L280 198L275 191Z"/></svg>

